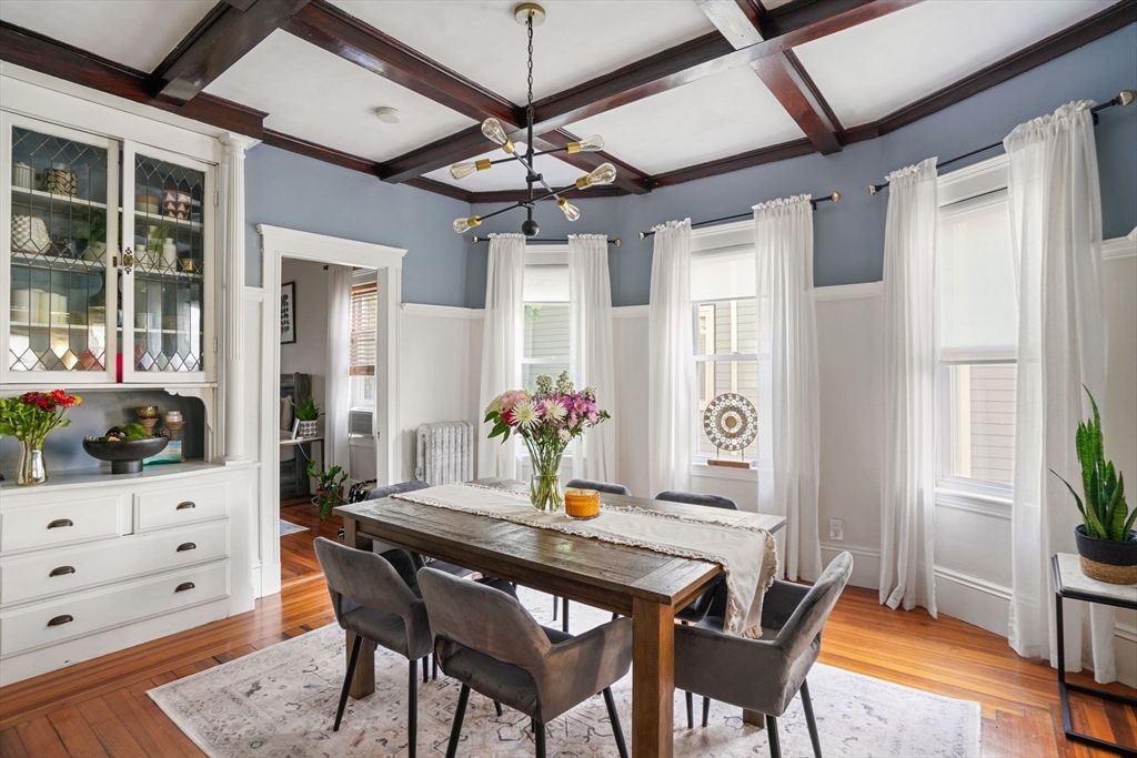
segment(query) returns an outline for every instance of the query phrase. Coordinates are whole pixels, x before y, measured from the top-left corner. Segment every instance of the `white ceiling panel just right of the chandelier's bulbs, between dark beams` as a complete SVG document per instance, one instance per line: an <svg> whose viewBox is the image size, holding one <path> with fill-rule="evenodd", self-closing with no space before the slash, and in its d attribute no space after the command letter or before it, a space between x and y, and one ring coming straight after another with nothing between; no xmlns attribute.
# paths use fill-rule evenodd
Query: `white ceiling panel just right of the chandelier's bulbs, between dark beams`
<svg viewBox="0 0 1137 758"><path fill-rule="evenodd" d="M659 174L804 136L749 66L732 68L568 126Z"/></svg>

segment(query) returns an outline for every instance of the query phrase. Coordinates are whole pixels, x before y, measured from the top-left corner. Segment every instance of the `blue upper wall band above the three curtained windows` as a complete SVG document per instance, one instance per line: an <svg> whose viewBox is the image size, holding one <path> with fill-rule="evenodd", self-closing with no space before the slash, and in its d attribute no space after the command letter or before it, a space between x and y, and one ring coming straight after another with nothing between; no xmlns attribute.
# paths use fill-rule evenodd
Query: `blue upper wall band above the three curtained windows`
<svg viewBox="0 0 1137 758"><path fill-rule="evenodd" d="M752 205L799 192L814 195L839 191L839 203L822 205L815 216L814 278L819 286L874 282L881 278L887 197L871 197L868 186L889 172L929 156L947 160L1001 141L1030 118L1052 113L1071 100L1104 102L1122 89L1137 88L1137 25L1039 66L1009 82L946 108L911 126L833 156L805 156L724 174L647 195L582 200L581 220L568 224L553 203L536 218L541 236L568 232L606 233L622 238L612 248L612 299L615 306L648 301L652 275L650 239L636 233L672 218L692 220L746 211ZM1102 215L1106 239L1137 225L1137 105L1102 113L1096 130L1102 180ZM995 152L985 153L982 160ZM966 163L956 164L952 169ZM495 206L475 206L487 213ZM521 214L490 219L478 231L514 232ZM467 235L468 236L468 235ZM481 307L485 290L485 243L468 248L466 305Z"/></svg>

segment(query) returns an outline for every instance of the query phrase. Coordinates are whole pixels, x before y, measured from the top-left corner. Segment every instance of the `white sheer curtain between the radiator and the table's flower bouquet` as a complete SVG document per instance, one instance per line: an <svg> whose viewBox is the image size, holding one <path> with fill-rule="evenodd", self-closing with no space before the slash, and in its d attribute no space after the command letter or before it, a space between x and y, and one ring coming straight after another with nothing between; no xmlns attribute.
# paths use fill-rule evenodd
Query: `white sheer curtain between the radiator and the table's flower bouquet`
<svg viewBox="0 0 1137 758"><path fill-rule="evenodd" d="M482 381L479 391L478 476L517 477L517 451L512 442L487 438L481 424L485 407L506 390L521 389L525 281L525 238L490 234L485 272L485 320L482 325Z"/></svg>

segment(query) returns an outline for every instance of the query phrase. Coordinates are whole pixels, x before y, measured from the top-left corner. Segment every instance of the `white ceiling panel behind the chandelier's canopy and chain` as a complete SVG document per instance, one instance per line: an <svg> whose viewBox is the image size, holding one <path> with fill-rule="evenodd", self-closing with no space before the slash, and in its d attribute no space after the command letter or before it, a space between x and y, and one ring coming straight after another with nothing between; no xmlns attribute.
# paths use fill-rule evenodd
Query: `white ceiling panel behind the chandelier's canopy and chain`
<svg viewBox="0 0 1137 758"><path fill-rule="evenodd" d="M7 0L6 0L7 1ZM525 27L516 0L332 0L463 76L525 101ZM692 0L541 0L533 93L542 98L714 31Z"/></svg>

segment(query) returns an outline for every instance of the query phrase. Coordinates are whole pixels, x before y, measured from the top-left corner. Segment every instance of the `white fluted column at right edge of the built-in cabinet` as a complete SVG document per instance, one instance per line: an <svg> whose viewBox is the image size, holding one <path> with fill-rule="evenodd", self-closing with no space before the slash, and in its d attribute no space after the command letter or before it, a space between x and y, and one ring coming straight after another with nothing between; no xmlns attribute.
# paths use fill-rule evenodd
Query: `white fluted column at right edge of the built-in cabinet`
<svg viewBox="0 0 1137 758"><path fill-rule="evenodd" d="M257 143L239 134L221 138L225 145L224 183L225 352L222 365L225 397L225 464L250 460L244 415L247 375L241 341L244 335L244 151Z"/></svg>

